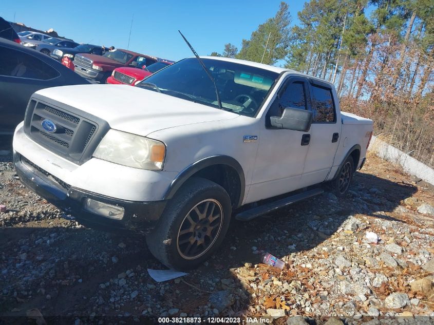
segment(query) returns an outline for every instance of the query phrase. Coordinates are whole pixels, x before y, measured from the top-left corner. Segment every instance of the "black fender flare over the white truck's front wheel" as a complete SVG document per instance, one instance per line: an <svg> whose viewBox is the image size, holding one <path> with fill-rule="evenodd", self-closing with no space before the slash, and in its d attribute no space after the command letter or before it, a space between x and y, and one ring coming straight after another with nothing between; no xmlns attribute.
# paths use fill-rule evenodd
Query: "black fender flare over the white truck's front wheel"
<svg viewBox="0 0 434 325"><path fill-rule="evenodd" d="M194 174L196 174L199 170L212 166L212 165L228 165L232 168L234 168L237 173L238 177L240 179L240 196L239 200L237 202L237 207L241 206L242 200L244 198L244 193L246 190L246 178L244 177L244 171L240 165L240 163L230 156L225 155L216 155L211 157L206 157L201 160L198 160L191 165L184 168L172 181L171 185L166 190L166 193L164 194L163 200L171 199L177 190L184 184L184 182L192 177Z"/></svg>

